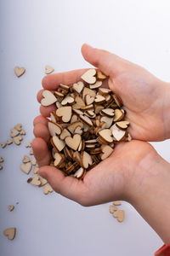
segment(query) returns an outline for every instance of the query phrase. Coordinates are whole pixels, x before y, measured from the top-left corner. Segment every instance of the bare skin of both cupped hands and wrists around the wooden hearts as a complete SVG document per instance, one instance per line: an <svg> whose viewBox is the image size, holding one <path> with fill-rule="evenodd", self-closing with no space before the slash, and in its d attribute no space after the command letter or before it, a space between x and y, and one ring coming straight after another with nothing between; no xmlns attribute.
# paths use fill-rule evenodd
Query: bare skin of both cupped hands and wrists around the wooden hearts
<svg viewBox="0 0 170 256"><path fill-rule="evenodd" d="M32 143L39 174L48 179L54 190L77 201L93 206L109 201L130 202L156 230L161 239L170 242L170 165L147 141L170 137L170 84L157 79L144 68L123 60L105 50L82 46L86 61L109 76L111 90L121 96L130 121L130 143L120 143L111 156L90 170L83 178L65 177L48 166L49 113L55 107L40 107L34 119L35 139ZM43 90L57 90L58 85L79 81L85 70L57 73L42 79ZM42 90L37 94L41 102Z"/></svg>

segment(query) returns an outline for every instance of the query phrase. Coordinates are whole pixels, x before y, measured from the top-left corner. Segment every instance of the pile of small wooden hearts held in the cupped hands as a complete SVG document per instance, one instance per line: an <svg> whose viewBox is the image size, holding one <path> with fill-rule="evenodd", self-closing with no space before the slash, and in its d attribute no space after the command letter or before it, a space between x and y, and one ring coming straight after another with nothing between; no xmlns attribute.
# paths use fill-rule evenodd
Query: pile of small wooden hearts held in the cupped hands
<svg viewBox="0 0 170 256"><path fill-rule="evenodd" d="M122 100L102 87L105 79L103 73L89 69L82 81L42 92L42 106L55 103L57 108L48 122L51 165L66 175L84 177L86 171L111 155L116 143L131 140Z"/></svg>

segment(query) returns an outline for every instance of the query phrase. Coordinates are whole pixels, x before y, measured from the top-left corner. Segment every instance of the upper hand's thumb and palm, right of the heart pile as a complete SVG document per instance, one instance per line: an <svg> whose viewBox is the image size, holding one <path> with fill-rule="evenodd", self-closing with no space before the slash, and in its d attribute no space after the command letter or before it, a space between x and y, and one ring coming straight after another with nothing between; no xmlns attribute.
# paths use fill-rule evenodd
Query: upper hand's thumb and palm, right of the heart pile
<svg viewBox="0 0 170 256"><path fill-rule="evenodd" d="M162 141L170 137L170 84L143 67L102 49L82 45L86 61L109 76L109 87L122 98L134 139Z"/></svg>

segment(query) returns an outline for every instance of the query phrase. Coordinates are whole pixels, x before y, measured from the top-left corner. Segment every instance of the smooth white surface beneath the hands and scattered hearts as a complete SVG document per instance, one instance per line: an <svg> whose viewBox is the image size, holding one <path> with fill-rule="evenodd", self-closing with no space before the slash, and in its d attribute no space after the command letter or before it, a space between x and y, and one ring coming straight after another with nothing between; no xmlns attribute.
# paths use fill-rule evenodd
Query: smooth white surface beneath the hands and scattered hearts
<svg viewBox="0 0 170 256"><path fill-rule="evenodd" d="M126 219L119 224L109 213L110 204L86 208L61 195L43 195L42 189L26 183L20 162L33 137L45 65L56 73L90 67L80 51L86 42L170 81L169 11L168 0L0 2L0 141L6 141L17 123L27 132L20 147L0 149L5 159L0 172L0 255L149 256L161 247L161 239L127 203L120 207ZM15 66L26 67L20 79L14 76ZM154 145L170 160L169 141ZM8 212L9 204L15 205L14 212ZM10 226L17 227L14 241L3 236Z"/></svg>

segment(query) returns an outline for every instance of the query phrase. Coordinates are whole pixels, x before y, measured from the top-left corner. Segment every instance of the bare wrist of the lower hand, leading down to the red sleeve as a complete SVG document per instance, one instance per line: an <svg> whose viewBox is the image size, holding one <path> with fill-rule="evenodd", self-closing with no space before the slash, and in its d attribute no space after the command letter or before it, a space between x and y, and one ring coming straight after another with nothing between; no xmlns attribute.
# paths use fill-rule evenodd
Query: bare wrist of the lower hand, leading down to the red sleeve
<svg viewBox="0 0 170 256"><path fill-rule="evenodd" d="M148 154L133 178L129 202L156 230L161 239L170 241L170 165L156 152Z"/></svg>

